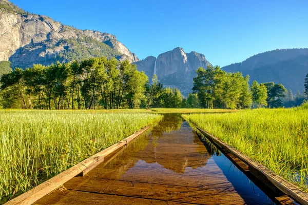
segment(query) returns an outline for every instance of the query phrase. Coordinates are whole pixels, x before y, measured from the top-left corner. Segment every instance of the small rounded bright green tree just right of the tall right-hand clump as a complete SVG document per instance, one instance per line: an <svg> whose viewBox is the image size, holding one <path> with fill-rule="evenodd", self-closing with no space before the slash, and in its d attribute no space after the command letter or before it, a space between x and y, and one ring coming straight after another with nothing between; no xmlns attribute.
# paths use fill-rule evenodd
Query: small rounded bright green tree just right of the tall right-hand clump
<svg viewBox="0 0 308 205"><path fill-rule="evenodd" d="M253 81L251 87L252 100L258 107L267 106L267 89L264 84L258 84L256 80Z"/></svg>

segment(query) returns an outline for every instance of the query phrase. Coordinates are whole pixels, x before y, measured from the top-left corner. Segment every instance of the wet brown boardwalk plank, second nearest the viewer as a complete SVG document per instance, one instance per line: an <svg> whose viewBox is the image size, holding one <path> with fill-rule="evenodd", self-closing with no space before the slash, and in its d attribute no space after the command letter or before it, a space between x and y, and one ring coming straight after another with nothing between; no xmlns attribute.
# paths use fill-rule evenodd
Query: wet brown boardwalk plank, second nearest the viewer
<svg viewBox="0 0 308 205"><path fill-rule="evenodd" d="M245 200L254 201L249 191L238 194L233 187L223 186L183 187L94 177L85 180L82 177L74 177L66 182L64 187L75 191L198 204L234 204L235 201L237 203L245 203ZM245 194L245 200L242 198L243 194Z"/></svg>

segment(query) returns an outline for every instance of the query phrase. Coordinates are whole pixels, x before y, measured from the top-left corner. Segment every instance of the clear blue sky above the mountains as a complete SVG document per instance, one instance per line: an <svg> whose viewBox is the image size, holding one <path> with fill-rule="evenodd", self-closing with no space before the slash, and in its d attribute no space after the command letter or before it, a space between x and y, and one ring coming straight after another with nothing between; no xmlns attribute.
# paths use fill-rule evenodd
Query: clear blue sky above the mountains
<svg viewBox="0 0 308 205"><path fill-rule="evenodd" d="M182 47L225 66L308 47L308 1L11 0L63 24L114 34L139 58Z"/></svg>

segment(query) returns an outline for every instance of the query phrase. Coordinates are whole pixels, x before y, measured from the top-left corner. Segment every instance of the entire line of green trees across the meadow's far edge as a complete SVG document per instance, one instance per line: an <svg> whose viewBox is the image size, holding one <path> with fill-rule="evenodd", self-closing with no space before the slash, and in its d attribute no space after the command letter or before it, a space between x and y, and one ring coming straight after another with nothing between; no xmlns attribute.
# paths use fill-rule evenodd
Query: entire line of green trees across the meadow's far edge
<svg viewBox="0 0 308 205"><path fill-rule="evenodd" d="M33 65L25 70L0 64L0 104L22 109L134 109L134 108L223 108L298 106L308 95L286 90L281 84L227 73L219 66L198 68L192 93L185 98L177 88L164 88L156 75L151 83L144 72L128 60L89 58L50 66Z"/></svg>

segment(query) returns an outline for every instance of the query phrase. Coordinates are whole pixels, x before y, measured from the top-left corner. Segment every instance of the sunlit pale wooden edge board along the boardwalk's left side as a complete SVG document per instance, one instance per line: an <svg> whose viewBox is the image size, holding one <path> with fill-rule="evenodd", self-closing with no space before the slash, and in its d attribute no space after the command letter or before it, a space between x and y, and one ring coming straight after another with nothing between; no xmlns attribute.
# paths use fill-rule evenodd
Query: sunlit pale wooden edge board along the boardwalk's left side
<svg viewBox="0 0 308 205"><path fill-rule="evenodd" d="M104 149L103 151L90 156L89 158L83 160L82 162L74 165L73 167L63 171L62 173L52 177L51 179L41 183L40 185L34 187L33 189L25 192L24 194L13 198L12 200L5 203L6 205L12 204L32 204L43 196L49 194L53 190L61 187L65 182L70 180L71 178L77 175L84 175L83 172L87 173L92 170L94 167L99 165L104 161L104 158L111 154L112 152L118 150L119 148L129 144L134 138L138 137L146 130L148 130L150 126L128 136L127 138L117 142L116 144ZM89 169L89 170L87 170Z"/></svg>

